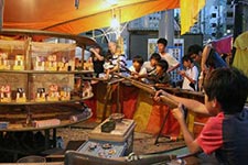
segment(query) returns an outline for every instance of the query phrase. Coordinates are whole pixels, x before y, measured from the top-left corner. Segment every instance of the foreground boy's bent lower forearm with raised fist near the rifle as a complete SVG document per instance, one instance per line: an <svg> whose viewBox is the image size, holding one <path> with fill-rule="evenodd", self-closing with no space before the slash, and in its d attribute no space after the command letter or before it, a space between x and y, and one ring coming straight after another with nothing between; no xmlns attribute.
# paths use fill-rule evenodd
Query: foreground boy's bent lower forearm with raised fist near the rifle
<svg viewBox="0 0 248 165"><path fill-rule="evenodd" d="M202 148L200 147L197 141L193 139L191 132L187 129L186 122L184 120L184 112L182 109L182 105L180 105L179 108L173 109L172 114L179 121L179 124L180 124L182 133L183 133L184 141L185 141L190 152L191 153L201 152Z"/></svg>

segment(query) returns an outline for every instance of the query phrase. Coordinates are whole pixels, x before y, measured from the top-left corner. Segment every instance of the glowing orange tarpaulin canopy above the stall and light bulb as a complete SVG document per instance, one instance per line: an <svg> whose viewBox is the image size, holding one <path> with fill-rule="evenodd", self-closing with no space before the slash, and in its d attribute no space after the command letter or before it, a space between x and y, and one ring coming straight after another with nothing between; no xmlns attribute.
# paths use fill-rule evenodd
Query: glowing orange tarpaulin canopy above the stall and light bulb
<svg viewBox="0 0 248 165"><path fill-rule="evenodd" d="M186 10L187 14L195 13L203 4L203 0L194 0L193 3L188 0L116 0L114 4L109 3L110 0L77 1L78 9L75 8L75 0L4 0L3 28L78 34L109 26L114 15L120 22L127 22L157 11L179 8L180 3L184 8L181 10ZM186 9L187 6L192 6L191 10ZM195 14L190 14L192 16ZM183 20L182 26L186 23Z"/></svg>

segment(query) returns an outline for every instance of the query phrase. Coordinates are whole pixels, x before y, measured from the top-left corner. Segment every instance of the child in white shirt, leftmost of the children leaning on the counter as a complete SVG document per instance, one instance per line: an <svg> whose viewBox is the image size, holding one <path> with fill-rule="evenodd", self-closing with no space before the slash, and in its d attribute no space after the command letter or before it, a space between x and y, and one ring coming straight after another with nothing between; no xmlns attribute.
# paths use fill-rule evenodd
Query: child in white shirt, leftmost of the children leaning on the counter
<svg viewBox="0 0 248 165"><path fill-rule="evenodd" d="M138 78L139 75L147 74L147 69L142 67L143 65L143 58L141 56L134 56L132 58L132 66L129 67L129 70L131 72L131 76L134 78Z"/></svg>

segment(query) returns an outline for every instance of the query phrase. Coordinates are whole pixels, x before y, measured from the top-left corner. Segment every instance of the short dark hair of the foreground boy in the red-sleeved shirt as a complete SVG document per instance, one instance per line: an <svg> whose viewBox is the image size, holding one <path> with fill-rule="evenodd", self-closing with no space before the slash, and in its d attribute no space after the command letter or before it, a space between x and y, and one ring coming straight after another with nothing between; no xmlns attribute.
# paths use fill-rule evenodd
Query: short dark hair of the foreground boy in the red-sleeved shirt
<svg viewBox="0 0 248 165"><path fill-rule="evenodd" d="M248 78L237 68L217 68L204 81L208 100L216 100L224 113L240 112L248 96Z"/></svg>

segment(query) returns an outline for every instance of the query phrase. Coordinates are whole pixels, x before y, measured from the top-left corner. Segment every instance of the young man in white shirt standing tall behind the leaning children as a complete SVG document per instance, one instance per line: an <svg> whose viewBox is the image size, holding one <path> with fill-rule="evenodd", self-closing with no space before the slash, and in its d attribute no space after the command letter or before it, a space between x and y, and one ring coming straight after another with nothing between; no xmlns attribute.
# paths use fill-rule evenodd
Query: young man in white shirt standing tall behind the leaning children
<svg viewBox="0 0 248 165"><path fill-rule="evenodd" d="M165 52L166 45L168 45L168 40L166 38L159 38L157 42L158 45L158 51L159 54L161 56L162 59L165 59L169 64L169 69L168 73L176 69L177 67L180 67L180 63L179 61L175 59L175 57L173 57L171 54Z"/></svg>

